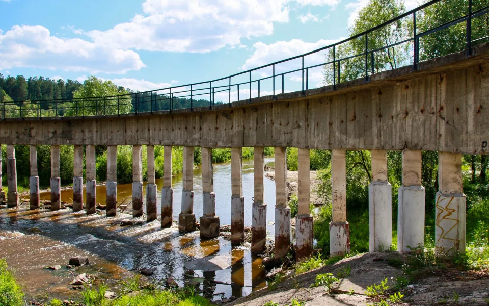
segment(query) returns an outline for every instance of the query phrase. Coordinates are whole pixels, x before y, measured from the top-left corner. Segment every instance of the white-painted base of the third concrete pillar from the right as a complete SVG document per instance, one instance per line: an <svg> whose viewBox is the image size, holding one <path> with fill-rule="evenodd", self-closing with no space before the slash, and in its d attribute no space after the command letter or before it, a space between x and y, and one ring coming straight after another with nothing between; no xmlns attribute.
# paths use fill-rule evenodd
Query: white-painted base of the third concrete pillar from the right
<svg viewBox="0 0 489 306"><path fill-rule="evenodd" d="M373 181L368 185L369 252L389 250L392 245L392 186Z"/></svg>

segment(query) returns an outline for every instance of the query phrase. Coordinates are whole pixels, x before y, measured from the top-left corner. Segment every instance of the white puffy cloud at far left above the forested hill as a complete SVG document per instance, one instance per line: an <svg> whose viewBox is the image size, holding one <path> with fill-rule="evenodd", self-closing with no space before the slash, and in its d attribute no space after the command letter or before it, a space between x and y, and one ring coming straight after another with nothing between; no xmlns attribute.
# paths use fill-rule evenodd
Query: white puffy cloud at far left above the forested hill
<svg viewBox="0 0 489 306"><path fill-rule="evenodd" d="M12 67L125 73L145 65L132 50L51 36L41 25L14 25L0 32L0 69Z"/></svg>

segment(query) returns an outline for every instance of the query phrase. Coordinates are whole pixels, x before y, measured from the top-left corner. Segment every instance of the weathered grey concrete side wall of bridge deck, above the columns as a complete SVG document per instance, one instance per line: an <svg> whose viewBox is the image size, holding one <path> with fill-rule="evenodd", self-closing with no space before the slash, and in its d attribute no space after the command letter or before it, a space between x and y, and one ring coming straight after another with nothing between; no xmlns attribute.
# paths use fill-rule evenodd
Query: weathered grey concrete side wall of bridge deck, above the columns
<svg viewBox="0 0 489 306"><path fill-rule="evenodd" d="M489 43L358 79L229 105L121 116L6 119L0 143L404 148L489 154ZM245 132L246 131L246 132ZM483 144L486 144L483 147Z"/></svg>

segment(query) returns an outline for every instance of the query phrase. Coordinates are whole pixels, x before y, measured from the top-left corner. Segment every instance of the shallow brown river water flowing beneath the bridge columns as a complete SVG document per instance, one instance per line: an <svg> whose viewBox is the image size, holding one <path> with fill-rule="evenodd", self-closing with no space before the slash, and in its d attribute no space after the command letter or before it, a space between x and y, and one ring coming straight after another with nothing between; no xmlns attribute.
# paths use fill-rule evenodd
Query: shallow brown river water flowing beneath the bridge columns
<svg viewBox="0 0 489 306"><path fill-rule="evenodd" d="M266 158L266 163L273 158ZM158 201L161 200L161 180L156 180ZM174 221L178 220L181 205L182 177L173 178ZM119 205L130 202L132 184L117 186ZM143 189L145 190L145 189ZM214 165L214 192L216 214L221 224L230 224L231 164ZM105 186L97 186L97 202L105 201ZM194 170L194 212L196 219L202 216L202 175ZM243 194L245 198L245 224L251 225L253 203L253 160L243 161ZM61 192L61 199L71 202L71 190ZM49 193L41 199L49 199ZM267 234L273 238L275 184L265 178L265 202L267 203ZM144 205L145 206L145 205ZM176 224L161 230L160 221L142 225L119 225L129 214L105 217L105 212L87 216L85 211L72 210L51 212L29 210L29 206L0 209L0 258L6 258L16 270L27 297L45 300L53 298L79 298L79 290L72 290L69 283L79 273L95 274L104 279L112 290L120 287L118 281L128 278L140 268L153 268L149 278L163 283L172 276L177 283L197 280L203 295L212 300L225 297L241 297L266 286L265 271L260 267L261 258L254 256L250 245L232 246L223 237L204 240L199 232L182 234ZM160 207L158 206L158 214ZM92 264L75 270L67 269L71 256L89 256ZM188 270L184 263L205 256L228 258L230 267L224 270L203 272ZM61 265L57 271L46 266ZM215 283L218 282L219 284ZM226 283L226 284L221 284Z"/></svg>

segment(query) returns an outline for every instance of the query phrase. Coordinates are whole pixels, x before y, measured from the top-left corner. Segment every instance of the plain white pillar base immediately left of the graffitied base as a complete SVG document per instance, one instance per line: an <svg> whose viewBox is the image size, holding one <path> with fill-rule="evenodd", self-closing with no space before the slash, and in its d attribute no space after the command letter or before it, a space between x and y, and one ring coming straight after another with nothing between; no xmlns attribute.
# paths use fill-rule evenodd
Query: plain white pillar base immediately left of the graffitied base
<svg viewBox="0 0 489 306"><path fill-rule="evenodd" d="M423 186L399 187L397 209L397 250L410 252L411 248L424 246Z"/></svg>

